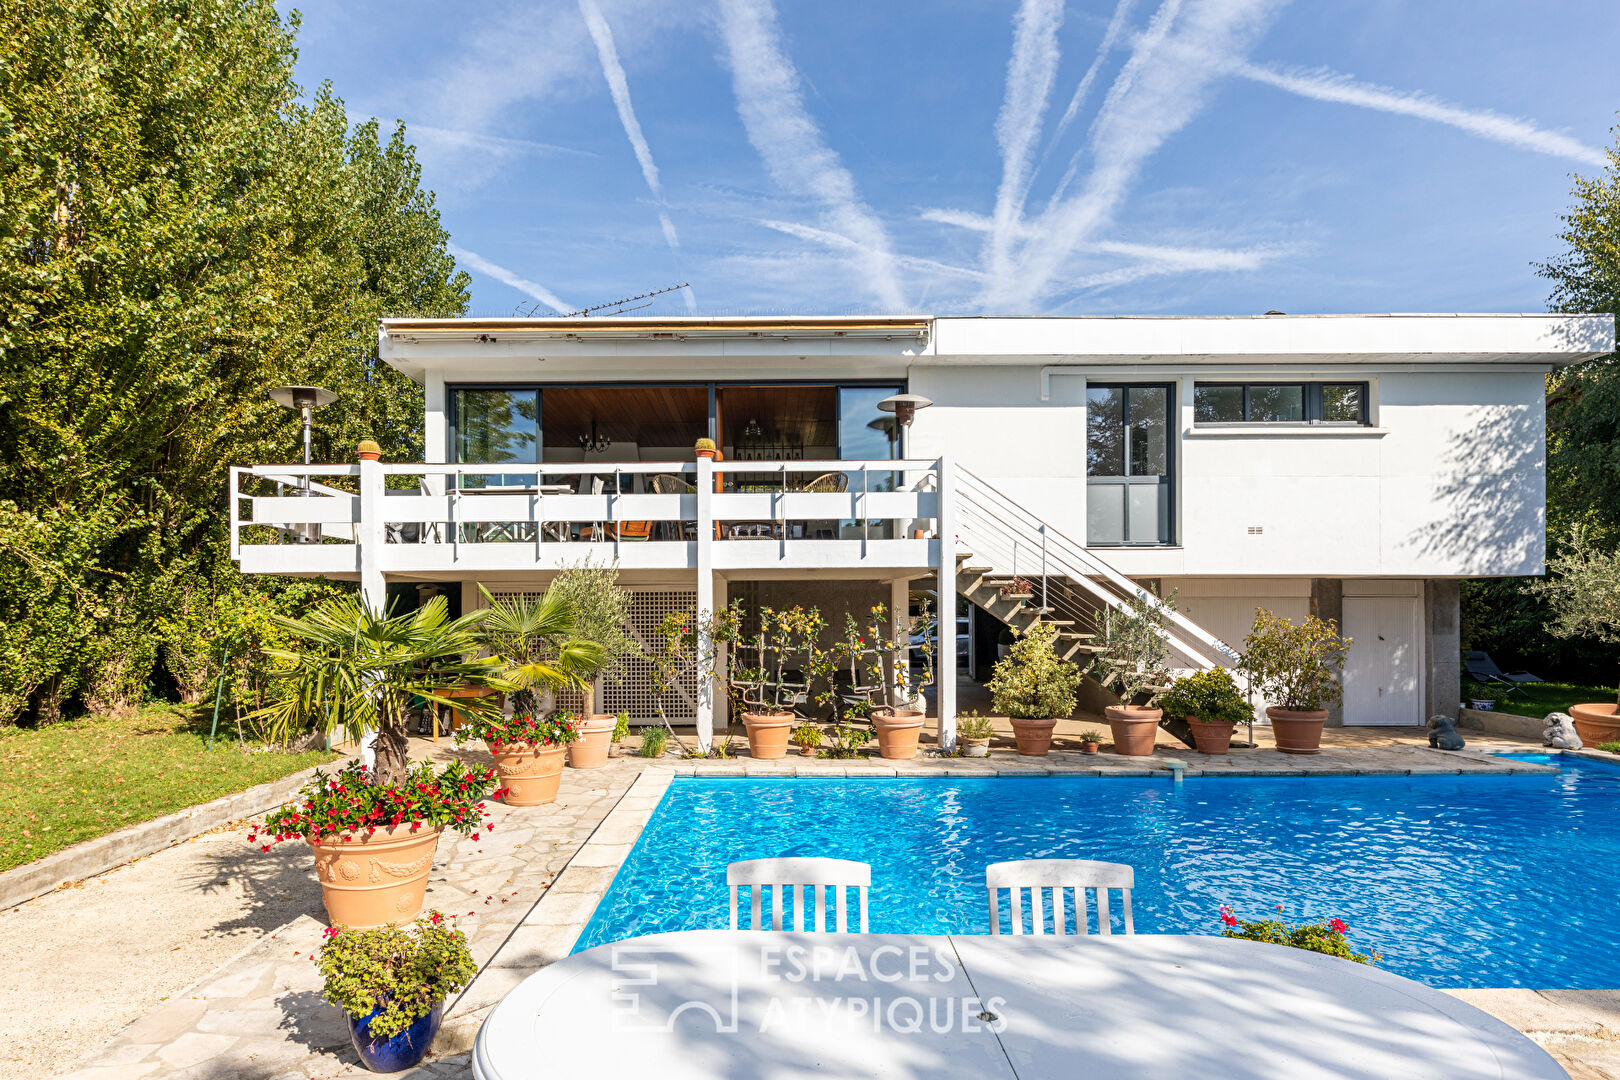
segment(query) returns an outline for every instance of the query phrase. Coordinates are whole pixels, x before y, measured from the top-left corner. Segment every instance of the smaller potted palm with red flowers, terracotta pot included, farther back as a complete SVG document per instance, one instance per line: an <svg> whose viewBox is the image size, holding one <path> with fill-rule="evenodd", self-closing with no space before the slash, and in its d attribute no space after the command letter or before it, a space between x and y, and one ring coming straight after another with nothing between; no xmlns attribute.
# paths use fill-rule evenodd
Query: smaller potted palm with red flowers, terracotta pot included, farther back
<svg viewBox="0 0 1620 1080"><path fill-rule="evenodd" d="M473 717L458 738L483 738L496 758L496 771L509 789L512 806L549 803L557 793L562 758L580 738L578 717L559 722L544 706L543 695L580 690L601 667L601 646L578 636L572 599L557 589L541 596L517 594L497 599L483 585L486 619L480 643L489 651L501 677L512 687L512 714L488 711ZM603 758L612 725L601 732Z"/></svg>

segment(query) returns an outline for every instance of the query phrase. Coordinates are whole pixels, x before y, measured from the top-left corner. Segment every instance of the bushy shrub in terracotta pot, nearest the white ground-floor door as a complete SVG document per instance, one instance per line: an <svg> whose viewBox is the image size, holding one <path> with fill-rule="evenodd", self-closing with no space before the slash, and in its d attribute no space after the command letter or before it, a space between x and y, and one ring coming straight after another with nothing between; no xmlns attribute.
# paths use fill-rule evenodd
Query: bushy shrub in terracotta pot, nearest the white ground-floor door
<svg viewBox="0 0 1620 1080"><path fill-rule="evenodd" d="M1327 706L1345 690L1338 682L1345 670L1345 651L1351 638L1338 633L1338 623L1306 615L1294 625L1264 607L1254 614L1249 636L1243 640L1241 669L1249 685L1267 701L1277 748L1288 755L1322 751L1322 725Z"/></svg>

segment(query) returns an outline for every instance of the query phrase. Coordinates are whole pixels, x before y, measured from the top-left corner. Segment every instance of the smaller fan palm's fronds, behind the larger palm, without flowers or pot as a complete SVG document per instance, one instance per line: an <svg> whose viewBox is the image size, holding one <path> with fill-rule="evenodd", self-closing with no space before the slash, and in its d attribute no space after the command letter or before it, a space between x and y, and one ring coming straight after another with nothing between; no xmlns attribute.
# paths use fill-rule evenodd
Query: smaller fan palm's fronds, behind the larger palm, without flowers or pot
<svg viewBox="0 0 1620 1080"><path fill-rule="evenodd" d="M478 591L489 604L478 640L512 687L514 712L538 712L543 690L586 688L603 665L603 648L578 636L578 610L561 589L505 599L483 585Z"/></svg>

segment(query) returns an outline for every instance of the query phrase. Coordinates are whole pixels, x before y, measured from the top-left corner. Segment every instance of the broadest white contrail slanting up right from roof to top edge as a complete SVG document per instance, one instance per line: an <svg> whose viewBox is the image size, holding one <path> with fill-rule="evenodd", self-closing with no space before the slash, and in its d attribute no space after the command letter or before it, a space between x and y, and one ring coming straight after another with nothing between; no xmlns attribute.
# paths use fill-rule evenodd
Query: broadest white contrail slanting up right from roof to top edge
<svg viewBox="0 0 1620 1080"><path fill-rule="evenodd" d="M1220 68L1189 53L1241 60L1259 40L1280 0L1166 0L1115 79L1084 152L1092 168L1081 189L1035 222L1016 270L996 277L982 298L1001 311L1032 311L1055 287L1071 253L1092 240L1119 207L1170 136L1204 107ZM1068 285L1072 285L1069 282Z"/></svg>

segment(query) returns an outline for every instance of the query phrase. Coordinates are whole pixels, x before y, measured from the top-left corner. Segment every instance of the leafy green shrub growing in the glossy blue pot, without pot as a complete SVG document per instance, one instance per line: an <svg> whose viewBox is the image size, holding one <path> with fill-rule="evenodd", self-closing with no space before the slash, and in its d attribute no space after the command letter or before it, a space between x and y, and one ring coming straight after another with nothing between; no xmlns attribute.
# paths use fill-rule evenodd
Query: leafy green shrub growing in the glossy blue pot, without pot
<svg viewBox="0 0 1620 1080"><path fill-rule="evenodd" d="M411 929L327 928L319 968L329 1002L356 1020L379 1010L368 1027L373 1038L399 1035L478 975L467 934L437 912Z"/></svg>

